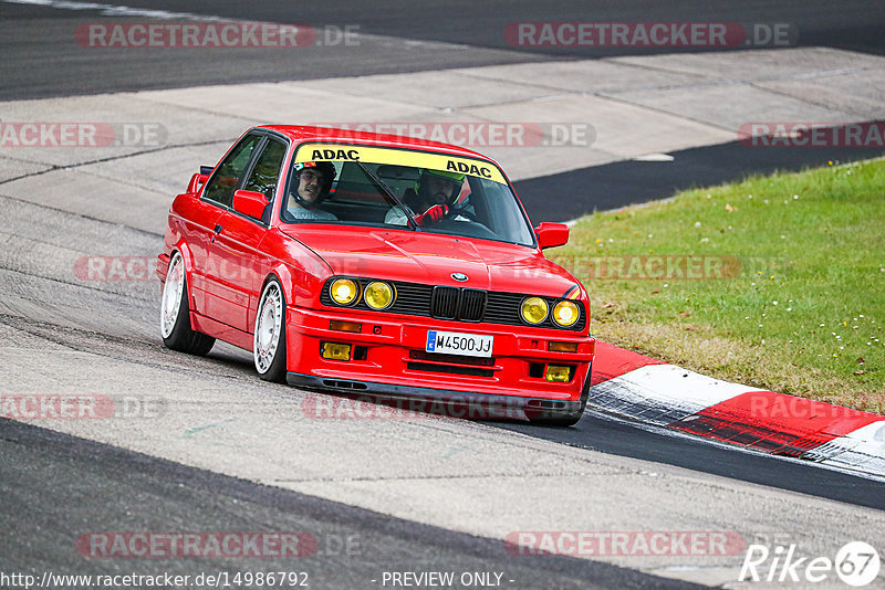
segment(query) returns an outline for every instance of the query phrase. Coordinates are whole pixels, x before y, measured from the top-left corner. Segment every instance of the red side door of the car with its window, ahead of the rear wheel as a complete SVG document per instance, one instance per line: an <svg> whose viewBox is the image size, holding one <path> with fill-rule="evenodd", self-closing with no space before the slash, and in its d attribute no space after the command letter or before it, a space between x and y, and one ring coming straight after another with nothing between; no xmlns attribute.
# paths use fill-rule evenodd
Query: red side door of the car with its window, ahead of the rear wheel
<svg viewBox="0 0 885 590"><path fill-rule="evenodd" d="M277 192L287 144L268 136L256 149L239 188L261 192L268 199L270 213ZM260 250L267 233L269 215L251 218L232 208L218 221L211 256L218 262L216 305L219 322L243 331L251 331L254 308L264 277L270 270L268 256Z"/></svg>

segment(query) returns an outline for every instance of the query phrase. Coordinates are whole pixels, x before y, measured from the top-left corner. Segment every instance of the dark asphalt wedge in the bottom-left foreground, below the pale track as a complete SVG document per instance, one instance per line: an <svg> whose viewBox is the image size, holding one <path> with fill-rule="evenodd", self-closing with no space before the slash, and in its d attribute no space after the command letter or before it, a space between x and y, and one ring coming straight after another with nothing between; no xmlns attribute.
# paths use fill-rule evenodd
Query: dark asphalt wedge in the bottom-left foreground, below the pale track
<svg viewBox="0 0 885 590"><path fill-rule="evenodd" d="M28 563L35 570L98 575L100 562L69 557L77 523L88 519L111 530L123 523L169 527L176 530L310 530L317 537L316 551L293 567L292 560L244 559L237 566L253 571L306 571L319 588L363 588L382 571L451 569L506 571L520 588L685 588L607 563L573 558L533 562L511 556L502 544L431 526L419 526L377 513L354 508L279 488L257 485L181 465L6 422L0 464L4 474L0 491L7 501L0 521L6 530L29 535L20 515L33 514L29 524L38 530L40 557L22 546L7 546L6 563ZM125 468L124 468L125 466ZM75 476L69 475L73 472ZM12 485L13 482L18 485ZM21 484L35 489L22 497ZM41 509L34 514L34 501ZM73 503L83 504L75 508ZM152 517L152 515L154 515ZM251 529L250 529L251 527ZM195 571L186 560L158 560L133 571ZM204 571L231 570L226 558L199 560ZM4 563L3 569L8 567ZM236 571L236 570L233 570Z"/></svg>

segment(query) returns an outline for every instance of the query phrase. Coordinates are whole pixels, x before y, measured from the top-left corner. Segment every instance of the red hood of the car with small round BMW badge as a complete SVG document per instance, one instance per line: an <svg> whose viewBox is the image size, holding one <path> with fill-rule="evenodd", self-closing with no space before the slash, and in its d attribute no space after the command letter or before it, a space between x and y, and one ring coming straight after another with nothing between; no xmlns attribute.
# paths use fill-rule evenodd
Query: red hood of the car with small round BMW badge
<svg viewBox="0 0 885 590"><path fill-rule="evenodd" d="M563 296L575 280L540 251L487 240L405 230L301 226L283 232L321 256L334 274ZM456 281L452 273L467 275Z"/></svg>

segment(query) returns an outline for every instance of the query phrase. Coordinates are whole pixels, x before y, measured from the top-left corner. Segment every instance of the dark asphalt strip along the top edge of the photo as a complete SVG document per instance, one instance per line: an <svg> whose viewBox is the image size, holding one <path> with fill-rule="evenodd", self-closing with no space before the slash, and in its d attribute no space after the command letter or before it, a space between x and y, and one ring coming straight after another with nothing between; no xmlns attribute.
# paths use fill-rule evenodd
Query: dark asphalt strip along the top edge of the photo
<svg viewBox="0 0 885 590"><path fill-rule="evenodd" d="M753 6L728 0L693 0L676 6L642 0L628 6L611 2L482 2L384 1L367 4L358 0L292 3L233 1L204 4L187 0L102 2L171 13L202 14L222 20L254 20L326 25L372 35L360 48L311 48L294 53L280 50L240 52L236 63L229 52L205 50L197 61L180 51L145 55L142 50L108 54L94 51L86 56L76 48L70 31L94 22L83 10L55 10L42 6L0 3L3 38L3 86L0 98L94 94L156 87L231 84L235 82L319 78L332 76L402 73L464 65L501 64L556 57L607 57L671 52L673 49L636 48L516 48L503 31L513 22L533 21L664 21L710 20L738 23L785 22L799 34L796 46L831 46L884 53L882 30L885 14L876 0L825 2L791 0L758 2ZM144 15L122 18L105 13L102 21L145 22ZM366 45L371 49L366 50ZM72 48L73 45L73 48ZM685 50L688 51L688 50Z"/></svg>

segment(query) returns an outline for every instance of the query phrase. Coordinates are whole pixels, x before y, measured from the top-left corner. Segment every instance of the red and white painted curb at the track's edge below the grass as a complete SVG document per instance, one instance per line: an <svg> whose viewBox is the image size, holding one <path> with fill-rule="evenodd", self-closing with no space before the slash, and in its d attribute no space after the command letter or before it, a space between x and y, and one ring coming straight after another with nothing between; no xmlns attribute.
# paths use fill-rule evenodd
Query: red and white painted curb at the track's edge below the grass
<svg viewBox="0 0 885 590"><path fill-rule="evenodd" d="M596 341L587 403L690 434L885 476L885 417L731 383Z"/></svg>

